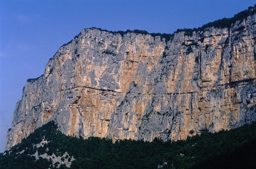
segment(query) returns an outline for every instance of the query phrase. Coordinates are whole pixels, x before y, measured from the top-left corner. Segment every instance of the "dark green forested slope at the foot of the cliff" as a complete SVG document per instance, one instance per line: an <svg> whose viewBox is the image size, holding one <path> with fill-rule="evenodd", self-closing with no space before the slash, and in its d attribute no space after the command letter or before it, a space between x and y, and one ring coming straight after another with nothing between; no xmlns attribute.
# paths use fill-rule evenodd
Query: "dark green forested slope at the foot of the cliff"
<svg viewBox="0 0 256 169"><path fill-rule="evenodd" d="M48 140L36 148L42 139ZM10 151L0 154L0 168L56 168L48 159L31 156L65 152L70 168L252 168L256 162L256 123L218 133L202 133L177 142L100 139L65 136L51 121ZM20 154L20 152L23 152ZM245 164L246 162L246 164ZM61 165L60 168L67 168Z"/></svg>

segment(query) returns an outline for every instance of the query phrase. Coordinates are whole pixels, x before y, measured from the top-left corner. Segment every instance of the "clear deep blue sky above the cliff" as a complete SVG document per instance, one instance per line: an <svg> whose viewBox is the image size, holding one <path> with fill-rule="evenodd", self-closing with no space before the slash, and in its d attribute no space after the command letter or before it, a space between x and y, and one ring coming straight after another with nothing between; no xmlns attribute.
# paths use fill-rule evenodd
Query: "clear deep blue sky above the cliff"
<svg viewBox="0 0 256 169"><path fill-rule="evenodd" d="M254 6L254 0L0 0L0 152L29 78L82 29L173 33Z"/></svg>

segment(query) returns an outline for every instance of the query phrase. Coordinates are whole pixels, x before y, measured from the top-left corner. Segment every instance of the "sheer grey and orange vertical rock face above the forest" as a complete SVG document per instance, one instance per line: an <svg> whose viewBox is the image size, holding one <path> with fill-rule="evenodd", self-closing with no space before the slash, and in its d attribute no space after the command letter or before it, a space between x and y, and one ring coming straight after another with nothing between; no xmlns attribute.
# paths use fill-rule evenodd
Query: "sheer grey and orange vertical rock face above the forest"
<svg viewBox="0 0 256 169"><path fill-rule="evenodd" d="M256 120L256 15L174 34L85 29L29 79L5 149L48 121L71 136L185 139Z"/></svg>

